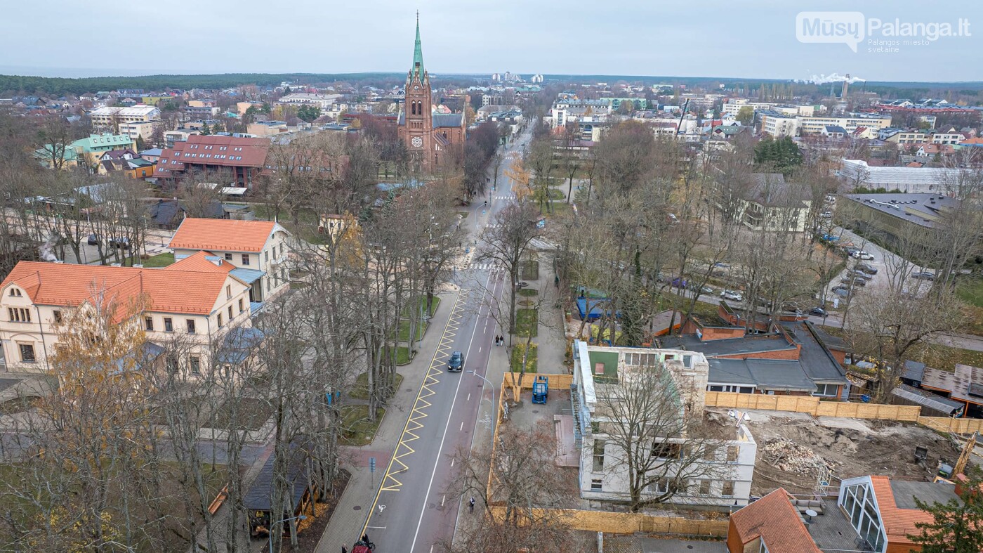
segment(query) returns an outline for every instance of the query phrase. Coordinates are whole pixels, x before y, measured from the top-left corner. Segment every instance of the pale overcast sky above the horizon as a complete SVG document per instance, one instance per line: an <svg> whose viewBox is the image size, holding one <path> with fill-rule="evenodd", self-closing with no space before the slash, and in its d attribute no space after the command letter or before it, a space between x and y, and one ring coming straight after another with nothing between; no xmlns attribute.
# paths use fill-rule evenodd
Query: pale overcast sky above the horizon
<svg viewBox="0 0 983 553"><path fill-rule="evenodd" d="M983 81L983 2L925 0L168 0L87 5L4 0L0 73L405 71L419 8L440 73ZM968 20L971 36L899 52L801 43L796 14L859 11L903 22Z"/></svg>

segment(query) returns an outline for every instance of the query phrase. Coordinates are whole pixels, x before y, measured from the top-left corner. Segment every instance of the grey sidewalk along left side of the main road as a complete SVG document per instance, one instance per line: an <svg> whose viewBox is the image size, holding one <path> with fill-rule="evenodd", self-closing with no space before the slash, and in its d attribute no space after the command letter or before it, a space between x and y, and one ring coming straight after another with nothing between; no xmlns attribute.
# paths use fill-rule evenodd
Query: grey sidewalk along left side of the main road
<svg viewBox="0 0 983 553"><path fill-rule="evenodd" d="M369 517L368 509L376 499L378 486L385 474L385 467L389 464L389 458L399 442L399 436L406 425L406 418L410 415L410 409L413 408L413 402L416 400L415 394L407 392L416 391L423 384L457 293L458 289L455 287L453 290L439 294L440 306L431 319L430 327L417 355L409 365L399 367L399 373L403 375L402 385L386 405L385 416L378 426L372 444L358 448L344 448L341 466L351 472L352 477L334 509L331 521L324 528L316 549L318 553L338 553L343 543L347 544L348 550L351 551L352 543L361 535L362 526ZM376 458L375 474L369 471L370 458Z"/></svg>

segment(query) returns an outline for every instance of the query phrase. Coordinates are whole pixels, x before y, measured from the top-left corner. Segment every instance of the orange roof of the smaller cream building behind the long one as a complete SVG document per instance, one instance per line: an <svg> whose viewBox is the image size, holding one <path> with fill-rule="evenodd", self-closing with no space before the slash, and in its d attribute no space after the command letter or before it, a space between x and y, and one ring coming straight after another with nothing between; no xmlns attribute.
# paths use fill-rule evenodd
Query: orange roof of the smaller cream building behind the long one
<svg viewBox="0 0 983 553"><path fill-rule="evenodd" d="M271 220L194 218L181 221L170 247L184 250L259 253L273 233Z"/></svg>

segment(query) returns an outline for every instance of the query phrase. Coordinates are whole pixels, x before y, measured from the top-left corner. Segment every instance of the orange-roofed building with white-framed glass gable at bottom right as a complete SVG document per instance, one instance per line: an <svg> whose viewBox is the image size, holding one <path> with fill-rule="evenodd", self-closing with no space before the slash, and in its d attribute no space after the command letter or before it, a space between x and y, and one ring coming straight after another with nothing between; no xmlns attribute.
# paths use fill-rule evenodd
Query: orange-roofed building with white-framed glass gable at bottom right
<svg viewBox="0 0 983 553"><path fill-rule="evenodd" d="M918 534L917 522L932 522L932 515L918 509L914 499L946 503L958 499L948 482L892 480L888 476L860 476L842 481L837 504L853 528L866 541L860 547L876 553L909 553L921 546L908 534ZM869 546L863 549L863 546Z"/></svg>

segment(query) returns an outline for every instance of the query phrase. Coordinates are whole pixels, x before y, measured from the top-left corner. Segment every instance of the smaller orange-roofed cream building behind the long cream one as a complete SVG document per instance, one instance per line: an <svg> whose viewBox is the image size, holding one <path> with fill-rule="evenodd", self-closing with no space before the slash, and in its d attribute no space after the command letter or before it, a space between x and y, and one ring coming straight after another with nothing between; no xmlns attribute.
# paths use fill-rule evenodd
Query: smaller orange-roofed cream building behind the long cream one
<svg viewBox="0 0 983 553"><path fill-rule="evenodd" d="M271 220L188 217L181 221L170 248L174 259L204 252L221 259L233 276L250 285L249 301L258 311L266 301L290 287L287 268L290 233Z"/></svg>

